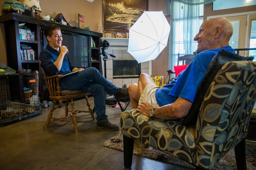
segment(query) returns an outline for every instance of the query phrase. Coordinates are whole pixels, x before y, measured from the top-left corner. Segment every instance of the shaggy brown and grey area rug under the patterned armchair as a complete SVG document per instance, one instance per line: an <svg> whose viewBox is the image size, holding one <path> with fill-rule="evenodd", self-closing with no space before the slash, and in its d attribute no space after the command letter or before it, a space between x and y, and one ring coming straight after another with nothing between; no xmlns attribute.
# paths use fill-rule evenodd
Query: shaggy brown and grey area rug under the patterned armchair
<svg viewBox="0 0 256 170"><path fill-rule="evenodd" d="M118 133L116 136L104 142L104 146L123 151L123 135ZM183 161L175 156L162 152L158 149L148 147L141 148L136 143L134 143L133 154L146 157L153 160L159 160L163 162L168 162L171 164L179 164L182 166L187 166L191 168L196 168L192 164ZM254 170L256 167L256 143L246 142L246 165L248 170ZM213 170L227 169L235 170L237 169L236 158L234 149L230 150L214 167Z"/></svg>

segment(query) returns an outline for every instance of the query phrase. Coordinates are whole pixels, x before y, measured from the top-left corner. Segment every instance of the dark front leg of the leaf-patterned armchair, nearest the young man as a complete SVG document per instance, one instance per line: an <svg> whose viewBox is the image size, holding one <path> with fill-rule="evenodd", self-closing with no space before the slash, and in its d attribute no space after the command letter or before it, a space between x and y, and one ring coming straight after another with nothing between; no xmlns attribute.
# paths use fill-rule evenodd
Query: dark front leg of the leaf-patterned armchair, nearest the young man
<svg viewBox="0 0 256 170"><path fill-rule="evenodd" d="M125 168L130 168L132 165L134 140L131 139L130 137L123 135L123 141L124 141L124 166Z"/></svg>

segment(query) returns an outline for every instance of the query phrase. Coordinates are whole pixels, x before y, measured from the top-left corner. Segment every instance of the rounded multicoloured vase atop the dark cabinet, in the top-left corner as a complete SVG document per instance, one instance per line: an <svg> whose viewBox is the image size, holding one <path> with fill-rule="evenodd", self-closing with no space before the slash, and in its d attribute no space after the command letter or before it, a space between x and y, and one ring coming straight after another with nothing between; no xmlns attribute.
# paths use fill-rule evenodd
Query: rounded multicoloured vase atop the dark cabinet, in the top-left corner
<svg viewBox="0 0 256 170"><path fill-rule="evenodd" d="M23 4L19 2L19 0L5 0L2 10L4 14L8 14L10 12L14 12L16 14L23 14L25 8Z"/></svg>

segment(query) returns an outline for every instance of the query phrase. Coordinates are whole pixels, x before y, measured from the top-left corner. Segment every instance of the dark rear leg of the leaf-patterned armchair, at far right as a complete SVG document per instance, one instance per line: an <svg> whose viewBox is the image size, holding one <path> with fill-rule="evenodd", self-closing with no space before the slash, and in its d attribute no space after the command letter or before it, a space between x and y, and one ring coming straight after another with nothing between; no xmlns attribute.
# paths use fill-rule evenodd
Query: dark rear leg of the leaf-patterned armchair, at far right
<svg viewBox="0 0 256 170"><path fill-rule="evenodd" d="M237 169L246 170L246 157L245 157L245 139L235 146L235 156L237 162Z"/></svg>

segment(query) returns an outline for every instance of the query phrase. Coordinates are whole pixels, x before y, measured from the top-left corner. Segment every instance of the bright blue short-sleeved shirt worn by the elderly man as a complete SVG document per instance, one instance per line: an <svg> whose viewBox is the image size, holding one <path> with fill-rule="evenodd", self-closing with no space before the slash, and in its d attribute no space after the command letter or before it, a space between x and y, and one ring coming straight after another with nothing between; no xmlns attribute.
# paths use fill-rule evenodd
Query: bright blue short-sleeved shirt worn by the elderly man
<svg viewBox="0 0 256 170"><path fill-rule="evenodd" d="M196 90L198 89L211 60L221 49L235 53L235 50L232 47L225 46L222 48L205 50L197 54L188 67L182 71L177 78L173 79L170 84L156 90L155 97L159 106L173 103L179 97L193 102Z"/></svg>

